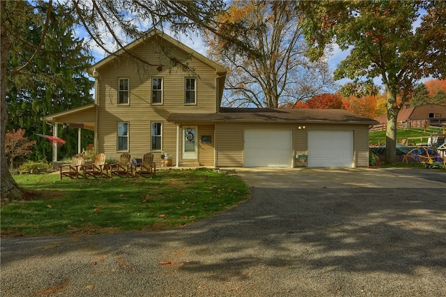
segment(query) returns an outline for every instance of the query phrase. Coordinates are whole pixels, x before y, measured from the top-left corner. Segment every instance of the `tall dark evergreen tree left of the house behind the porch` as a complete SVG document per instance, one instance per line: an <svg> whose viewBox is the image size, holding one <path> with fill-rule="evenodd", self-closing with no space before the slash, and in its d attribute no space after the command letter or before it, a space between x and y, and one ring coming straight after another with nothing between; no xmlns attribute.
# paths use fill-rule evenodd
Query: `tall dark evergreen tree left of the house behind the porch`
<svg viewBox="0 0 446 297"><path fill-rule="evenodd" d="M38 2L36 10L29 3L24 4L29 13L22 24L24 40L12 44L8 68L16 69L31 56L43 36L43 21L38 15L47 13L47 3ZM33 133L52 135L52 126L41 121L43 116L54 114L92 103L90 90L92 82L85 76L85 69L92 61L84 47L83 40L75 37L75 19L64 6L54 6L49 14L50 22L43 47L33 60L33 67L24 68L8 81L6 103L8 107L8 130L23 128L27 137L36 139L37 145L29 158L51 160L52 145ZM30 30L26 30L30 28ZM82 146L93 142L93 132L83 132ZM77 153L77 130L59 130L59 137L66 145L59 148L59 155Z"/></svg>

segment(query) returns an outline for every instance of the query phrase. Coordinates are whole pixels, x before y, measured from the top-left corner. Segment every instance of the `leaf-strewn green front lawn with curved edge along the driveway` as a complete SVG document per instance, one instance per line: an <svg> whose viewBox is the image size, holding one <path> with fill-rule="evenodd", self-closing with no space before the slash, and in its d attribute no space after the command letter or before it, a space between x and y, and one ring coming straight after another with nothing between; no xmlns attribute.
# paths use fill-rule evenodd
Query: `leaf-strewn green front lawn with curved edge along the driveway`
<svg viewBox="0 0 446 297"><path fill-rule="evenodd" d="M1 236L159 230L208 218L249 197L243 181L213 169L158 171L155 178L15 176L26 199L2 204Z"/></svg>

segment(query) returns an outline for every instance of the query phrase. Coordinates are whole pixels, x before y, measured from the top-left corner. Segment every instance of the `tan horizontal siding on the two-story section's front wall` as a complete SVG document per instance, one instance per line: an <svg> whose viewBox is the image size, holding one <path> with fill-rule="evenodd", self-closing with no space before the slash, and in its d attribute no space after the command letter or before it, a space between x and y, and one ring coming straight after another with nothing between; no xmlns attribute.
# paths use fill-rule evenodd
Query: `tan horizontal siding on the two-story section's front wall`
<svg viewBox="0 0 446 297"><path fill-rule="evenodd" d="M176 160L176 125L167 123L165 119L171 112L215 112L215 70L192 58L186 61L194 68L196 75L183 72L179 67L170 68L167 58L159 59L155 53L154 44L147 43L134 47L134 53L148 60L153 66L144 66L133 61L128 56L120 56L114 61L98 69L99 116L98 151L107 157L118 158L122 152L116 151L118 122L129 122L129 153L132 158L142 158L144 153L151 151L151 123L162 122L162 150L171 154ZM169 47L171 54L179 59L187 57L187 53ZM162 64L162 71L156 68ZM151 104L152 77L163 79L163 102L161 105ZM197 77L197 102L195 105L185 105L185 77ZM118 105L118 79L128 78L130 98L129 105ZM212 150L213 151L213 150ZM160 151L154 151L155 161L160 162ZM210 161L210 151L207 146L199 151L203 154L203 164L213 164ZM213 153L212 153L213 156ZM212 158L213 159L213 158ZM201 161L200 161L201 162Z"/></svg>

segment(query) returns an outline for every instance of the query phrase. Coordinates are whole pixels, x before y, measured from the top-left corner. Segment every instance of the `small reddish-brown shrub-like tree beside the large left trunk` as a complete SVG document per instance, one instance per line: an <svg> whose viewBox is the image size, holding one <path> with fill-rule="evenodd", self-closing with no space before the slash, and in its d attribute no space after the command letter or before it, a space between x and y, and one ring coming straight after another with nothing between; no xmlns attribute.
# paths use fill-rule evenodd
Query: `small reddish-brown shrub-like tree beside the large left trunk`
<svg viewBox="0 0 446 297"><path fill-rule="evenodd" d="M14 159L24 155L28 156L33 151L33 147L36 145L36 140L28 140L28 137L24 137L24 129L13 129L6 131L5 135L5 154L9 159L10 170L13 170Z"/></svg>

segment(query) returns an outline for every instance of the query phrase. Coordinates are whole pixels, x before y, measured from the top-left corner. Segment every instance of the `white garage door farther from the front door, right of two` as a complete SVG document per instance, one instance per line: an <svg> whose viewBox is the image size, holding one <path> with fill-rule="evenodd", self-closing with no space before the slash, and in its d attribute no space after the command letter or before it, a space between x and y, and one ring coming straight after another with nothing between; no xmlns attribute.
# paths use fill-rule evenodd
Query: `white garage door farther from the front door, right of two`
<svg viewBox="0 0 446 297"><path fill-rule="evenodd" d="M353 167L353 131L308 131L308 167Z"/></svg>

